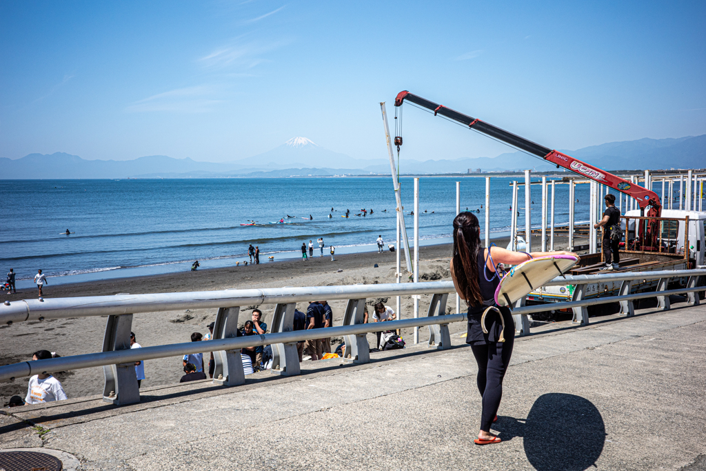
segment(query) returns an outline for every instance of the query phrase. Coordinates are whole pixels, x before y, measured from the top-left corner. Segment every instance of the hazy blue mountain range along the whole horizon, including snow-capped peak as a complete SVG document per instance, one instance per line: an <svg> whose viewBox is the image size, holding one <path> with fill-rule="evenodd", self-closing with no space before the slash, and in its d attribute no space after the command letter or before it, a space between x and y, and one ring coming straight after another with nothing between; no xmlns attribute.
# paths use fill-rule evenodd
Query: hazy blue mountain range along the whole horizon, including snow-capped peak
<svg viewBox="0 0 706 471"><path fill-rule="evenodd" d="M639 139L592 145L562 152L606 170L686 169L706 167L706 134L669 139ZM555 169L521 152L457 160L401 160L402 174L443 174ZM234 162L196 162L150 155L135 160L84 160L78 155L30 154L0 158L0 179L217 178L291 177L335 174L389 174L387 159L361 160L292 138L260 155Z"/></svg>

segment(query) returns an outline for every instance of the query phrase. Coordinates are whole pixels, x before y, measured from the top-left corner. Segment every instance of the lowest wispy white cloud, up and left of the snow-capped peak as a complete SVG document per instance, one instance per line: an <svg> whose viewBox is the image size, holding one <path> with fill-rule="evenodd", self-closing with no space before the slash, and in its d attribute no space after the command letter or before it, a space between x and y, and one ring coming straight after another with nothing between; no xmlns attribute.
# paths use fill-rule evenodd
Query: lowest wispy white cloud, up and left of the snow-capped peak
<svg viewBox="0 0 706 471"><path fill-rule="evenodd" d="M125 107L125 112L205 113L224 102L215 99L217 95L222 95L222 88L215 85L177 88L133 102Z"/></svg>

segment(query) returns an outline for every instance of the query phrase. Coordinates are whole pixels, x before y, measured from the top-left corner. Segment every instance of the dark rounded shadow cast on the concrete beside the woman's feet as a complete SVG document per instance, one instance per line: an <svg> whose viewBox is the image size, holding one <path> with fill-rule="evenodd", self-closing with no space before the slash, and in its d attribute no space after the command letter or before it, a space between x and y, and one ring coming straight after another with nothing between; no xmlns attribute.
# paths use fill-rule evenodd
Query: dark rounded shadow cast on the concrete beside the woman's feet
<svg viewBox="0 0 706 471"><path fill-rule="evenodd" d="M540 396L526 420L498 416L493 429L501 432L503 441L521 436L527 460L542 471L584 471L594 466L606 439L596 406L578 395L562 393Z"/></svg>

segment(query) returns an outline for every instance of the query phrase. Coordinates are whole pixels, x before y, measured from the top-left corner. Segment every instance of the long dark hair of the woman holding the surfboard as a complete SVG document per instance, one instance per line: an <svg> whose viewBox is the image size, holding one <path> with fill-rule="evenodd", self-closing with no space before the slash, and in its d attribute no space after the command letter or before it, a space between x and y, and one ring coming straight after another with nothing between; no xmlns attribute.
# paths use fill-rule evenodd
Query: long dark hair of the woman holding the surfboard
<svg viewBox="0 0 706 471"><path fill-rule="evenodd" d="M453 220L453 275L469 306L484 301L478 284L479 229L478 218L467 211Z"/></svg>

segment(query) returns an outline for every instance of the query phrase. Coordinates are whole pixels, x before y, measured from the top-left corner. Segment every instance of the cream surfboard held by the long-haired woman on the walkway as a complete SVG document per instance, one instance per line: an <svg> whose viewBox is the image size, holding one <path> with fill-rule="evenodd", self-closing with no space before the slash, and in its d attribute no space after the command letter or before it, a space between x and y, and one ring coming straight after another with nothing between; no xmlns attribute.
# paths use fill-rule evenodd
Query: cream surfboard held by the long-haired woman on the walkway
<svg viewBox="0 0 706 471"><path fill-rule="evenodd" d="M578 257L550 255L532 258L510 268L495 291L498 306L512 306L517 299L527 296L544 283L563 275L576 265Z"/></svg>

